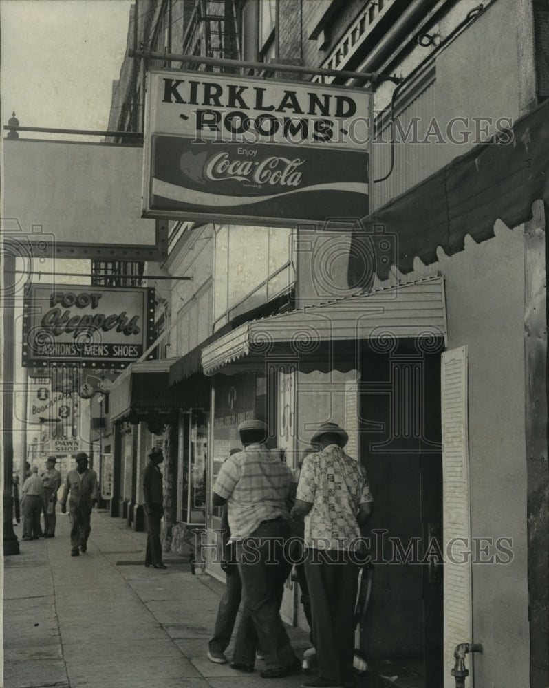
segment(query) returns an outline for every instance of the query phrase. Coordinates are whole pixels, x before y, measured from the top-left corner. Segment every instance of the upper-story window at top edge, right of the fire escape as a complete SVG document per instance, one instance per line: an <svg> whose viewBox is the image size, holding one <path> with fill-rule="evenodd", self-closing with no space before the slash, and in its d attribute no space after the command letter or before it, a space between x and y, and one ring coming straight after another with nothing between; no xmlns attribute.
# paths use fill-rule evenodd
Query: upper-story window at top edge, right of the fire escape
<svg viewBox="0 0 549 688"><path fill-rule="evenodd" d="M268 62L276 57L277 0L244 0L239 5L242 56Z"/></svg>

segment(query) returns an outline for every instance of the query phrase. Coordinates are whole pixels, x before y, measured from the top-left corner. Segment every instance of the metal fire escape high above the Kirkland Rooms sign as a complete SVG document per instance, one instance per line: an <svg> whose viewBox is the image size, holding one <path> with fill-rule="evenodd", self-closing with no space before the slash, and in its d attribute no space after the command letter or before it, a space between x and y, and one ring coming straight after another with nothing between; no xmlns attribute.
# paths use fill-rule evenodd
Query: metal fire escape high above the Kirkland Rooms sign
<svg viewBox="0 0 549 688"><path fill-rule="evenodd" d="M219 59L237 60L240 47L237 17L233 0L199 0L183 36L183 52L186 55L202 55ZM182 65L187 69L230 71L206 65Z"/></svg>

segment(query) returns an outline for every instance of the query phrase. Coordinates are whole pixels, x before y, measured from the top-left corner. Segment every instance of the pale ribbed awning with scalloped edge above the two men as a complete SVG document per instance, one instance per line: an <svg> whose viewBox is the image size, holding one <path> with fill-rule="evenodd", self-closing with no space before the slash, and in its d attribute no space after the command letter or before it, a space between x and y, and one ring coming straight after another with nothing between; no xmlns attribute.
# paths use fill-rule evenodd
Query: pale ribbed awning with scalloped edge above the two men
<svg viewBox="0 0 549 688"><path fill-rule="evenodd" d="M306 361L325 351L326 343L338 343L341 349L361 339L383 343L418 337L446 338L440 276L248 321L204 347L202 367L206 375L213 375L239 361L244 372L246 364L253 367L269 356Z"/></svg>

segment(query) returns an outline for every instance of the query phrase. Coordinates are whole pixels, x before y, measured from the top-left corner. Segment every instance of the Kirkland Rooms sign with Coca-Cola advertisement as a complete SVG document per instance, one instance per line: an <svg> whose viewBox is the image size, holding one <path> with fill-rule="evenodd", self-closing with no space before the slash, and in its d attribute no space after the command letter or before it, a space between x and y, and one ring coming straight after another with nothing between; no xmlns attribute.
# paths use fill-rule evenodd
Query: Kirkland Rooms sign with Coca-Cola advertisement
<svg viewBox="0 0 549 688"><path fill-rule="evenodd" d="M144 217L323 222L368 211L369 92L151 70Z"/></svg>

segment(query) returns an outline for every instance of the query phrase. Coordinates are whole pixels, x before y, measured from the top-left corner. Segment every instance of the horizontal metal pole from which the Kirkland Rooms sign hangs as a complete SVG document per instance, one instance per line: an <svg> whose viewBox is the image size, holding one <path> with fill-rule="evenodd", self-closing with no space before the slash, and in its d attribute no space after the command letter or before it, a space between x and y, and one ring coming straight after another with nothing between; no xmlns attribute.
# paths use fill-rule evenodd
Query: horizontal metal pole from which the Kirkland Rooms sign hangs
<svg viewBox="0 0 549 688"><path fill-rule="evenodd" d="M129 48L128 57L137 57L144 60L164 60L166 62L189 62L198 65L212 65L213 67L247 67L248 69L259 69L261 72L292 72L293 74L314 74L315 76L337 76L346 79L368 80L375 79L380 81L392 81L400 83L400 77L390 76L389 74L374 74L374 72L347 72L340 69L318 69L316 67L300 67L299 65L279 65L273 62L251 62L241 60L220 59L217 57L203 57L201 55L183 55L163 52L152 52L151 50L132 50Z"/></svg>

